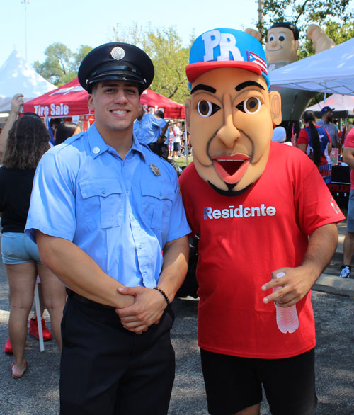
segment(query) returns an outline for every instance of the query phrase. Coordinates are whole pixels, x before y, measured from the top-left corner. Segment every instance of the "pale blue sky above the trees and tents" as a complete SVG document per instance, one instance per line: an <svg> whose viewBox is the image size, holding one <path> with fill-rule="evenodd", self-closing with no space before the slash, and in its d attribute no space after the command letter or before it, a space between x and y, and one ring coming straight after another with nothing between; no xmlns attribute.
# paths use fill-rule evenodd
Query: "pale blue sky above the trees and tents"
<svg viewBox="0 0 354 415"><path fill-rule="evenodd" d="M112 28L117 23L123 28L129 28L133 23L143 27L149 23L165 28L174 25L186 45L193 29L195 35L200 35L205 30L218 27L255 28L258 19L256 0L26 2L25 5L21 0L1 0L0 66L13 49L25 59L25 39L27 61L33 64L35 60L45 60L45 48L53 42L62 42L73 52L80 45L96 47L110 42L113 40Z"/></svg>

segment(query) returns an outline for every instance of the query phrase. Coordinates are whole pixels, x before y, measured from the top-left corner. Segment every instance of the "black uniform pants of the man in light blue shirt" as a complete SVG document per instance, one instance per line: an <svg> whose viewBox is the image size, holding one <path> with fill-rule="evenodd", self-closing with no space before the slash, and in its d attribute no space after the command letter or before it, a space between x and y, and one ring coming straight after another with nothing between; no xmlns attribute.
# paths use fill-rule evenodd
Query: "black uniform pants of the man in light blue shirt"
<svg viewBox="0 0 354 415"><path fill-rule="evenodd" d="M84 300L84 302L83 302ZM171 306L142 334L113 308L69 295L62 319L61 415L166 415L175 360Z"/></svg>

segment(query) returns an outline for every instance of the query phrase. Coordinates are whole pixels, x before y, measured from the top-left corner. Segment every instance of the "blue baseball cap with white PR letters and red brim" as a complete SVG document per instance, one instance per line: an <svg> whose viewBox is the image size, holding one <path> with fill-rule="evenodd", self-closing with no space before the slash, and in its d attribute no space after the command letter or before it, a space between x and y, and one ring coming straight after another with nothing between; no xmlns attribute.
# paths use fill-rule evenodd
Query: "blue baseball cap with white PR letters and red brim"
<svg viewBox="0 0 354 415"><path fill-rule="evenodd" d="M267 60L260 42L249 33L236 29L217 28L198 36L190 49L185 68L188 81L222 67L246 69L263 76L269 88Z"/></svg>

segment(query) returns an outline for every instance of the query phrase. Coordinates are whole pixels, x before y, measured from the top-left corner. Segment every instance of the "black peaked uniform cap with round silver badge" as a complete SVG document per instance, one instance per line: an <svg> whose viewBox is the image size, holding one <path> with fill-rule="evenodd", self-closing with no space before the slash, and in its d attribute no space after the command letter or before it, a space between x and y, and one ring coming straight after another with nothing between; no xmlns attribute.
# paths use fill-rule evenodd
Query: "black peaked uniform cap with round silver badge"
<svg viewBox="0 0 354 415"><path fill-rule="evenodd" d="M121 42L105 43L84 57L78 78L89 93L96 82L116 79L137 82L141 94L154 79L154 64L139 47Z"/></svg>

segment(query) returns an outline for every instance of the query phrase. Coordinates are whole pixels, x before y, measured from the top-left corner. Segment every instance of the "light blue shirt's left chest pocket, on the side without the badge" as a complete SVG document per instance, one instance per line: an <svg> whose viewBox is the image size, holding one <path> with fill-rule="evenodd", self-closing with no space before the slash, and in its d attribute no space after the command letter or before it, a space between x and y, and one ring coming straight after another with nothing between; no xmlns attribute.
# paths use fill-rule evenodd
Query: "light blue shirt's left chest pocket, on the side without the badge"
<svg viewBox="0 0 354 415"><path fill-rule="evenodd" d="M92 229L120 226L123 192L116 178L89 178L79 182L82 208Z"/></svg>

